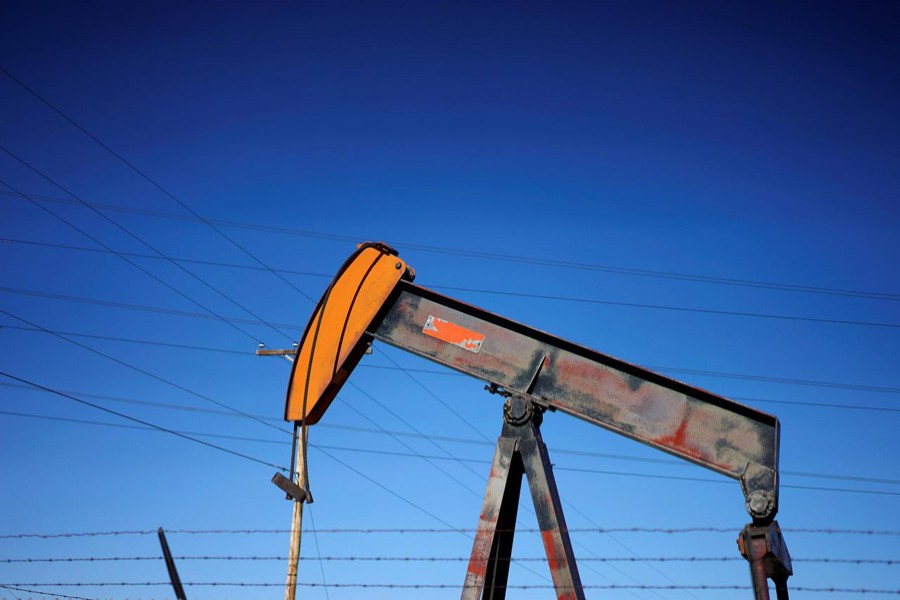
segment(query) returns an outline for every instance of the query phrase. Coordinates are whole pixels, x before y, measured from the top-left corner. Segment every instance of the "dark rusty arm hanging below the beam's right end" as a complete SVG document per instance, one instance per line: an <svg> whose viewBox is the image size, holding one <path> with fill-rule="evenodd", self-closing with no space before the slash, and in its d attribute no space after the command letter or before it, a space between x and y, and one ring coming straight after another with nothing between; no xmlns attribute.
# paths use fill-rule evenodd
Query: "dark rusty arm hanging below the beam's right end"
<svg viewBox="0 0 900 600"><path fill-rule="evenodd" d="M769 579L772 579L778 600L788 600L787 580L794 571L778 522L747 525L738 537L738 548L750 564L754 598L769 600Z"/></svg>

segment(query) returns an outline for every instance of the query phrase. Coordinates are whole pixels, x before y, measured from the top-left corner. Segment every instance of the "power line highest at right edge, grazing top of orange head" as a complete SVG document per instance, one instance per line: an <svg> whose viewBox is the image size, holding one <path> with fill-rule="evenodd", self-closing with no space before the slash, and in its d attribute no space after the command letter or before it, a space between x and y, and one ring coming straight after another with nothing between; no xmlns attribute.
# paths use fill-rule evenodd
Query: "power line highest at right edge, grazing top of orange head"
<svg viewBox="0 0 900 600"><path fill-rule="evenodd" d="M2 194L2 193L3 192L0 192L0 194ZM37 196L37 195L35 197L41 198L43 200L61 202L61 203L66 203L66 204L69 203L68 201L66 201L65 199L62 199L62 198L53 198L53 197L49 197L49 196ZM104 210L127 212L127 213L131 213L131 214L138 214L138 215L153 217L153 218L179 220L179 221L187 221L187 222L194 222L194 223L201 222L198 219L187 218L187 217L184 217L183 215L177 215L177 214L161 212L161 211L151 211L151 210L146 210L146 209L135 209L135 208L120 206L120 205L115 205L115 204L95 203L94 206L96 206L98 208L102 208ZM306 238L312 238L312 239L350 242L350 243L356 243L360 239L358 236L354 237L354 236L350 236L350 235L332 234L332 233L327 233L327 232L318 232L318 231L303 230L303 229L296 229L296 228L289 228L289 227L280 227L280 226L274 226L274 225L260 225L260 224L248 223L248 222L243 222L243 221L233 221L233 220L225 220L225 219L207 219L207 220L216 225L221 225L224 227L232 227L235 229L263 231L263 232L267 232L267 233L278 233L278 234L291 235L291 236L297 236L297 237L306 237ZM578 263L578 262L560 261L560 260L553 260L553 259L547 259L547 258L537 258L537 257L529 257L529 256L511 255L511 254L498 254L498 253L488 253L488 252L478 252L478 251L467 251L467 250L460 250L460 249L456 249L456 248L430 246L430 245L407 243L407 242L401 242L401 241L395 241L395 242L393 242L393 245L400 247L400 248L408 248L410 250L417 250L420 252L429 252L429 253L435 253L435 254L447 254L447 255L452 255L452 256L465 256L468 258L495 260L495 261L510 262L510 263L533 264L533 265L538 265L538 266L547 266L547 267L563 268L563 269L574 269L574 270L583 270L583 271L612 273L612 274L616 274L616 275L650 277L650 278L658 278L658 279L669 279L669 280L687 281L687 282L694 282L694 283L706 283L706 284L715 284L715 285L725 285L725 286L753 287L753 288L761 288L761 289L771 289L771 290L780 290L780 291L788 291L788 292L801 292L801 293L819 294L819 295L828 295L828 296L849 296L849 297L855 297L855 298L867 298L867 299L872 299L872 300L889 300L889 301L900 300L900 294L890 294L890 293L882 293L882 292L868 292L868 291L861 291L861 290L850 290L850 289L840 289L840 288L831 288L831 287L817 287L817 286L778 283L778 282L769 282L769 281L760 281L760 280L751 280L751 279L739 279L739 278L731 278L731 277L716 277L716 276L710 276L710 275L679 273L679 272L673 272L673 271L635 269L635 268L629 268L629 267L616 267L616 266L602 265L602 264Z"/></svg>

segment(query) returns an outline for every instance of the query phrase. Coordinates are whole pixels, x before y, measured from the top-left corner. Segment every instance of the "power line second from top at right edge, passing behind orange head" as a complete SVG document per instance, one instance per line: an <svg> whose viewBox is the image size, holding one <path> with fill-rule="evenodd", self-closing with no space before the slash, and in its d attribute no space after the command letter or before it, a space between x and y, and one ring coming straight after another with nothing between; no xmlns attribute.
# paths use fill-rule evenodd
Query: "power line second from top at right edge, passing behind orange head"
<svg viewBox="0 0 900 600"><path fill-rule="evenodd" d="M5 242L10 243L23 243L29 244L33 246L45 246L45 247L53 247L58 249L66 249L66 250L83 250L90 252L103 252L101 250L96 250L92 248L83 248L79 246L70 246L65 244L51 244L51 243L41 243L41 242L31 242L31 241L21 241L21 240L13 240L13 239L5 239ZM225 267L230 269L254 269L254 270L265 270L275 273L279 275L281 273L289 273L295 275L305 275L312 277L329 277L324 273L310 273L306 271L293 271L289 269L273 269L273 268L254 268L248 267L246 265L239 265L234 263L226 263L221 261L199 261L185 258L175 258L169 256L152 256L148 254L139 254L139 253L123 253L128 256L134 256L139 258L149 258L149 259L157 259L157 260L167 260L175 263L195 263L195 264L203 264L207 266L217 266L217 267ZM862 321L858 319L829 319L829 318L821 318L821 317L804 317L798 315L778 315L778 314L769 314L769 313L758 313L758 312L746 312L746 311L730 311L730 310L717 310L717 309L708 309L708 308L696 308L689 306L672 306L672 305L663 305L663 304L645 304L638 302L620 302L613 300L601 300L598 298L578 298L573 296L562 296L562 295L548 295L548 294L535 294L529 292L513 292L507 290L491 290L485 288L471 288L471 287L460 287L460 286L448 286L448 285L431 285L429 286L438 290L450 290L450 291L458 291L458 292L468 292L468 293L476 293L476 294L488 294L494 296L512 296L518 298L532 298L537 300L550 300L555 302L570 302L577 304L594 304L594 305L603 305L603 306L623 306L628 308L644 308L644 309L652 309L652 310L668 310L668 311L680 311L680 312L691 312L698 314L711 314L711 315L722 315L722 316L733 316L733 317L748 317L748 318L756 318L756 319L774 319L774 320L786 320L786 321L801 321L801 322L809 322L809 323L825 323L825 324L836 324L836 325L858 325L858 326L866 326L866 327L886 327L886 328L900 328L900 324L897 323L883 323L876 321Z"/></svg>

